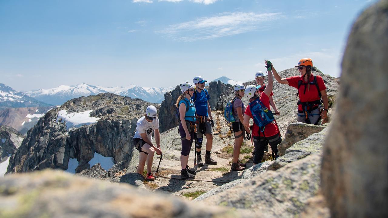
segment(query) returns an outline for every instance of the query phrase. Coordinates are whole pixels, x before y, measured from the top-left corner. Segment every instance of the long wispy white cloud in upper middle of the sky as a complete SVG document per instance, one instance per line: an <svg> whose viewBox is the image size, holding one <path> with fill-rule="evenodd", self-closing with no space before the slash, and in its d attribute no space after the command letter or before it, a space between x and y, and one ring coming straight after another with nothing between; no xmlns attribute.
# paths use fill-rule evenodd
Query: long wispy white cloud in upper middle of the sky
<svg viewBox="0 0 388 218"><path fill-rule="evenodd" d="M270 25L265 24L264 21L272 21L280 17L282 17L281 13L225 12L218 16L201 17L195 21L173 24L157 33L174 40L192 42L266 29Z"/></svg>

